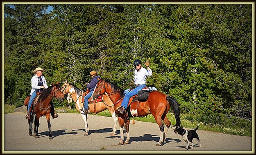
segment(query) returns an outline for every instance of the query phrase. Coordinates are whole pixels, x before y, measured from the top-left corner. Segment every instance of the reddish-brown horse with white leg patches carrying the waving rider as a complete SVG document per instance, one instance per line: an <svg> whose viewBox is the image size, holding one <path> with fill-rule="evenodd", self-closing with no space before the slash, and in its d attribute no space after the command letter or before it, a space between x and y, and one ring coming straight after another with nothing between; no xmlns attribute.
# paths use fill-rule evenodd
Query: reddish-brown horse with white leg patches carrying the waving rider
<svg viewBox="0 0 256 155"><path fill-rule="evenodd" d="M152 114L156 120L156 123L159 125L160 128L160 140L156 144L156 146L161 146L165 140L165 135L169 127L171 126L171 122L168 120L166 114L168 113L170 106L174 111L174 116L176 119L176 128L181 126L180 121L180 108L177 100L173 97L165 95L159 91L152 91L149 93L148 99L145 102L132 102L130 106L127 107L127 112L121 114L117 111L117 109L121 106L123 100L123 91L122 89L118 88L116 85L112 84L111 82L106 82L102 79L98 79L97 86L95 88L94 96L102 95L107 93L109 95L110 100L115 104L114 109L116 114L118 115L118 122L120 126L120 142L118 145L129 144L129 124L130 118L129 117L144 117L149 114ZM134 95L133 97L135 97ZM133 100L133 97L130 98L129 102ZM128 113L129 111L129 113ZM163 124L165 123L165 126ZM124 126L127 133L126 141L124 141Z"/></svg>

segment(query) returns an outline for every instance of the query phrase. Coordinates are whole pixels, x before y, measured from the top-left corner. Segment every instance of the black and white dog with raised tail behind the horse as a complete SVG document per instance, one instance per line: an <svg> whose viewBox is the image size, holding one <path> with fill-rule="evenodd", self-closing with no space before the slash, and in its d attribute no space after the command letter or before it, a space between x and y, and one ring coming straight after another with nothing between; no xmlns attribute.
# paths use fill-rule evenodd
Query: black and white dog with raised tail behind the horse
<svg viewBox="0 0 256 155"><path fill-rule="evenodd" d="M197 131L198 127L199 127L199 124L197 124L197 128L195 128L194 130L190 130L190 131L187 131L183 127L180 127L180 128L177 128L174 130L174 133L178 133L179 135L181 135L183 140L187 143L186 149L188 149L190 142L192 143L192 146L190 146L190 148L191 149L194 148L194 143L192 142L192 140L194 138L199 142L200 148L202 148L199 137L198 137L197 133L195 132L195 131Z"/></svg>

